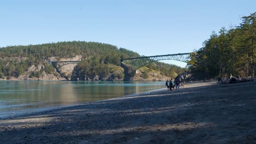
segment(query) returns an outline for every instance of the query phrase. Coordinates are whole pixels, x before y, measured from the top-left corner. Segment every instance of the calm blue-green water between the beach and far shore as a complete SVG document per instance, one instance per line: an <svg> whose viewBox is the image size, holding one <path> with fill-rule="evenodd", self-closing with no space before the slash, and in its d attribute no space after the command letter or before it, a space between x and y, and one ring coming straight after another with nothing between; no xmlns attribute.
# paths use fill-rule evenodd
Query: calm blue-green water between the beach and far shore
<svg viewBox="0 0 256 144"><path fill-rule="evenodd" d="M0 118L164 87L165 82L0 81Z"/></svg>

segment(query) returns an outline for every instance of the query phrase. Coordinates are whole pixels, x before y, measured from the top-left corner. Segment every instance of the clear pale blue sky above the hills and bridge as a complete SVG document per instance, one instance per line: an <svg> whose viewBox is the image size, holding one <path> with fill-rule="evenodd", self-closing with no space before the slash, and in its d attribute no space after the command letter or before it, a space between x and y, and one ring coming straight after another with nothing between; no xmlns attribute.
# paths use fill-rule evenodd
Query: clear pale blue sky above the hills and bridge
<svg viewBox="0 0 256 144"><path fill-rule="evenodd" d="M200 49L213 31L239 26L255 5L255 0L1 1L0 47L75 40L143 56L187 53Z"/></svg>

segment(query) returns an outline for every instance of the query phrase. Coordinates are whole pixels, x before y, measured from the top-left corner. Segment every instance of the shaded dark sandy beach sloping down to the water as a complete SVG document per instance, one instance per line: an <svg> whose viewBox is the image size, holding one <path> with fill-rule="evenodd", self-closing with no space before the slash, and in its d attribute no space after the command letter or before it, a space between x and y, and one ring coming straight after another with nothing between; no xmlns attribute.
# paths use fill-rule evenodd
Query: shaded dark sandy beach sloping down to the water
<svg viewBox="0 0 256 144"><path fill-rule="evenodd" d="M195 82L2 119L0 143L256 143L256 81Z"/></svg>

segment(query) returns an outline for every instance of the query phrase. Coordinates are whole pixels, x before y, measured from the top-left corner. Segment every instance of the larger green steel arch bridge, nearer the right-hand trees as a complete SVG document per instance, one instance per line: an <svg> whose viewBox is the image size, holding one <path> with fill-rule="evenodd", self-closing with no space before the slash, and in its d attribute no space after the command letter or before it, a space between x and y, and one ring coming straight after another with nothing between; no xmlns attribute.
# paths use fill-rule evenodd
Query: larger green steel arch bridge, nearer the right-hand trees
<svg viewBox="0 0 256 144"><path fill-rule="evenodd" d="M190 53L177 53L171 55L160 55L160 56L149 56L149 57L132 57L132 58L123 58L121 62L124 64L131 65L131 67L138 70L145 65L161 60L175 60L188 63L190 60Z"/></svg>

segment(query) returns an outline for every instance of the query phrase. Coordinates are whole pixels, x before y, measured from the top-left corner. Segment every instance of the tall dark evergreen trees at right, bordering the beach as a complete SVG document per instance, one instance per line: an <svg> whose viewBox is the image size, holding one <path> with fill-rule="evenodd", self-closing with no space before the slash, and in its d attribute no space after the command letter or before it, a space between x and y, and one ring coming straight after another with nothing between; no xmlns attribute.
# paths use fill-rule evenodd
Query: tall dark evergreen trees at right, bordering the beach
<svg viewBox="0 0 256 144"><path fill-rule="evenodd" d="M191 55L190 70L197 79L254 76L256 12L242 17L240 26L222 28Z"/></svg>

